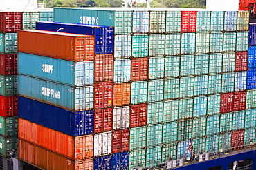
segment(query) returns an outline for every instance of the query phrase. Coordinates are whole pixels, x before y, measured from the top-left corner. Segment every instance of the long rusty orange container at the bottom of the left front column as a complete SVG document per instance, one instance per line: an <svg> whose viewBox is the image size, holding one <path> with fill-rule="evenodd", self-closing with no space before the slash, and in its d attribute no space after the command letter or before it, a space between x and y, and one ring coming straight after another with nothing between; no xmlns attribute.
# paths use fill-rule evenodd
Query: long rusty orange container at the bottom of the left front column
<svg viewBox="0 0 256 170"><path fill-rule="evenodd" d="M93 170L93 158L74 161L24 140L19 140L19 159L39 169Z"/></svg>

